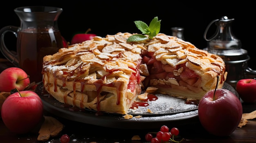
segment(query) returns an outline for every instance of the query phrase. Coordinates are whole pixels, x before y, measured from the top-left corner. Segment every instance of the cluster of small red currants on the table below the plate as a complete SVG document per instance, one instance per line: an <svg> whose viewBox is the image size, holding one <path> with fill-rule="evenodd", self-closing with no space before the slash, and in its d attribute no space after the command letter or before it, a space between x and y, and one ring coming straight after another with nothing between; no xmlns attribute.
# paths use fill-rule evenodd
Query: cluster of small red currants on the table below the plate
<svg viewBox="0 0 256 143"><path fill-rule="evenodd" d="M181 143L185 139L181 139L180 141L175 141L175 137L180 133L178 128L169 128L166 125L162 125L160 131L158 132L149 132L145 135L146 141L150 141L150 143ZM156 134L153 137L152 134Z"/></svg>

